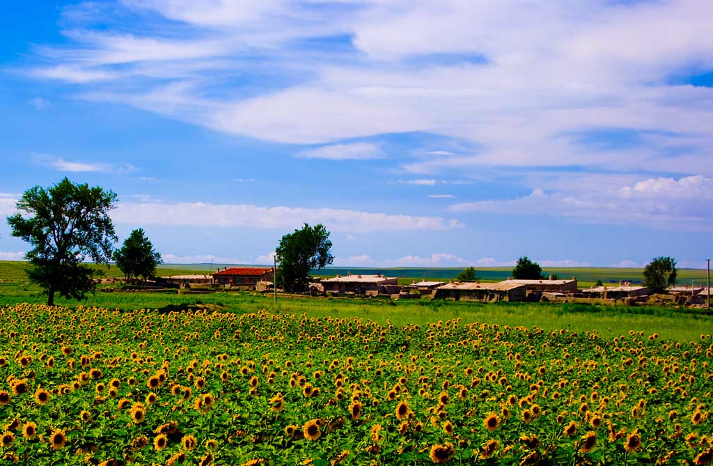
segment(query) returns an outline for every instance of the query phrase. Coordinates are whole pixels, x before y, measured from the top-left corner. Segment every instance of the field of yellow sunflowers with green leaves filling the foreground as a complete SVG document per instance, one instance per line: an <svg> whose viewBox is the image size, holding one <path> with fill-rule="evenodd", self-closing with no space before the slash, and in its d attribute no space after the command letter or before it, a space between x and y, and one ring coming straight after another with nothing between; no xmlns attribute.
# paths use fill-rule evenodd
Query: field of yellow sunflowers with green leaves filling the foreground
<svg viewBox="0 0 713 466"><path fill-rule="evenodd" d="M713 342L0 308L0 462L706 465Z"/></svg>

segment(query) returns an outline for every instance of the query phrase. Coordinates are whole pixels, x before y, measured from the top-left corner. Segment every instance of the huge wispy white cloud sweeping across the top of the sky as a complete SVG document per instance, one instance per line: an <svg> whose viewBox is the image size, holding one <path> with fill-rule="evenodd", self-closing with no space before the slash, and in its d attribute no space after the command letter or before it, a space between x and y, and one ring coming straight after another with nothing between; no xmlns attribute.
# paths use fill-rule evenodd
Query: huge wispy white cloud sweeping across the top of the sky
<svg viewBox="0 0 713 466"><path fill-rule="evenodd" d="M111 8L135 21L108 28L92 22L101 6L73 7L67 44L36 49L29 72L268 141L424 131L478 147L404 166L424 176L488 166L713 175L713 89L670 79L713 68L707 0L252 3L123 0ZM352 39L304 46L336 35ZM255 66L281 84L216 86ZM571 136L610 128L648 136L619 148Z"/></svg>

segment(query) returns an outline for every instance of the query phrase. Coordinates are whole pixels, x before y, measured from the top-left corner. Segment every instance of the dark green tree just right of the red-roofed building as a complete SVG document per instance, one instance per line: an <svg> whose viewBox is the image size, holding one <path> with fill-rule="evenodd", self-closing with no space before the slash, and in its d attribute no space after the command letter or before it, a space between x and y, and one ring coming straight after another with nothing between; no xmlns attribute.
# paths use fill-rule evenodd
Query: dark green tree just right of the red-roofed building
<svg viewBox="0 0 713 466"><path fill-rule="evenodd" d="M275 250L279 277L285 290L302 291L309 285L309 270L323 268L334 261L329 231L321 223L304 224L301 230L288 233Z"/></svg>

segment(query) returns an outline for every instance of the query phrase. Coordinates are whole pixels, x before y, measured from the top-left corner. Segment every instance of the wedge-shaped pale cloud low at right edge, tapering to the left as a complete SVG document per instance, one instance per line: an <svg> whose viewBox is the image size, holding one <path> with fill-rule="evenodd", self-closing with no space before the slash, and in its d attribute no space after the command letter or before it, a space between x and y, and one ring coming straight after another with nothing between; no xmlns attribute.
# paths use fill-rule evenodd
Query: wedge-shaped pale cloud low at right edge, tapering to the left
<svg viewBox="0 0 713 466"><path fill-rule="evenodd" d="M453 204L451 212L484 212L513 216L565 216L585 223L639 223L655 228L689 231L713 229L709 206L713 178L687 176L650 178L633 186L610 190L545 193L495 201Z"/></svg>

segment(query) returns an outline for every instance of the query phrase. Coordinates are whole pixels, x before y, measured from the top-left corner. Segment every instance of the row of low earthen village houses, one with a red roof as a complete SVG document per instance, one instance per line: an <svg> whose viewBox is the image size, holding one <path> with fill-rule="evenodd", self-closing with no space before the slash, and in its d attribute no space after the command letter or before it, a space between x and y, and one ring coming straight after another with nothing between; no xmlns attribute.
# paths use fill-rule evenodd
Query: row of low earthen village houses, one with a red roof
<svg viewBox="0 0 713 466"><path fill-rule="evenodd" d="M234 267L216 270L205 275L175 275L157 277L143 283L141 290L178 288L182 293L214 293L226 290L255 290L259 293L275 291L275 269L258 267ZM666 293L651 293L647 286L621 281L579 288L576 277L559 279L553 275L541 280L518 280L508 278L496 283L461 282L450 279L413 280L399 284L399 277L383 274L337 275L332 278L313 277L308 295L329 297L363 297L402 299L431 299L478 301L481 303L506 302L553 302L590 303L601 305L682 305L692 308L705 307L710 290L704 286L673 286ZM277 291L280 291L279 289Z"/></svg>

